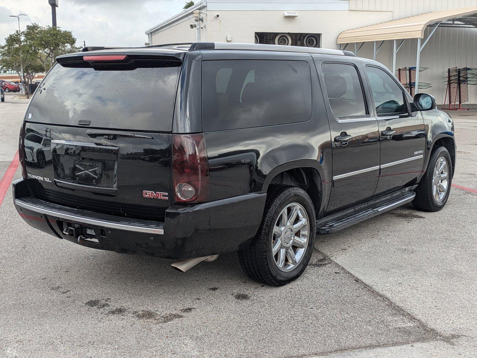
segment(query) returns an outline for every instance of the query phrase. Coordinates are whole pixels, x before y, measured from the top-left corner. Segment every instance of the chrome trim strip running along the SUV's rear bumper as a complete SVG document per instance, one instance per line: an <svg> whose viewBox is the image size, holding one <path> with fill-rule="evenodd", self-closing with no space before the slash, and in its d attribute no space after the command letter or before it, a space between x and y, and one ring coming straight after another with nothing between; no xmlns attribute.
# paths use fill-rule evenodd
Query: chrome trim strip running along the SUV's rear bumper
<svg viewBox="0 0 477 358"><path fill-rule="evenodd" d="M146 226L136 226L131 224L114 223L111 221L99 220L99 219L94 219L91 217L65 213L60 210L51 210L45 207L31 205L31 204L23 202L21 199L15 199L15 205L18 205L27 210L31 210L35 213L40 213L44 215L52 215L52 216L59 217L61 219L72 220L72 221L76 221L76 222L80 222L84 224L104 226L104 227L109 227L112 229L119 229L119 230L126 230L126 231L135 231L139 233L164 235L164 226L146 227Z"/></svg>

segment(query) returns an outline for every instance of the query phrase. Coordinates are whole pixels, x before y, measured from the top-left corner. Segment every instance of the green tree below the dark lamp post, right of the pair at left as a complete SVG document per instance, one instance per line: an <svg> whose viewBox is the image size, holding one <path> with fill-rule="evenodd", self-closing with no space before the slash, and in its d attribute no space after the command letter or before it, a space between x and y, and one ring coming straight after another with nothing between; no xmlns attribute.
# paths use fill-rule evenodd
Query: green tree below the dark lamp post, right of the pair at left
<svg viewBox="0 0 477 358"><path fill-rule="evenodd" d="M55 57L80 49L76 47L76 38L71 31L61 30L58 27L40 26L37 23L27 25L23 31L23 38L32 54L36 54L38 61L47 72L55 61Z"/></svg>

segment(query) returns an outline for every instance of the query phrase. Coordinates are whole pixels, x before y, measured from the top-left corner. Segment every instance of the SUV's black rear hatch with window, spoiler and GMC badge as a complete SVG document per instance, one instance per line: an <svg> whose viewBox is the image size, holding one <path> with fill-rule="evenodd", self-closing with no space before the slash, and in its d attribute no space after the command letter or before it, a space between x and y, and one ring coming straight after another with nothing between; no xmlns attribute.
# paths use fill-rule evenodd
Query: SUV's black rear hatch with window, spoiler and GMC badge
<svg viewBox="0 0 477 358"><path fill-rule="evenodd" d="M173 202L171 130L182 55L117 50L59 58L25 114L33 195L163 221Z"/></svg>

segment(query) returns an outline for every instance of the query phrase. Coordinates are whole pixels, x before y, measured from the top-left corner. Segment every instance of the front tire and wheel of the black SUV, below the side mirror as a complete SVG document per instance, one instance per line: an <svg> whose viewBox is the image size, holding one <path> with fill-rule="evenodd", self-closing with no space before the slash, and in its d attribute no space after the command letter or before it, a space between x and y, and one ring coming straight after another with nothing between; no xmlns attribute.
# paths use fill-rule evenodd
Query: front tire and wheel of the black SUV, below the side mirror
<svg viewBox="0 0 477 358"><path fill-rule="evenodd" d="M446 183L444 185L444 170L442 173L437 176L437 162L439 162L439 167L443 165L446 168ZM416 196L413 200L413 205L416 209L424 211L439 211L447 203L447 198L449 197L449 192L452 184L452 161L450 154L447 151L446 147L438 146L433 148L431 156L429 157L429 164L427 164L427 169L421 182L417 185L415 189ZM437 187L438 193L434 190L434 183L436 180L442 180L442 187L439 185ZM439 183L438 181L436 183ZM445 191L442 191L442 188L445 187Z"/></svg>

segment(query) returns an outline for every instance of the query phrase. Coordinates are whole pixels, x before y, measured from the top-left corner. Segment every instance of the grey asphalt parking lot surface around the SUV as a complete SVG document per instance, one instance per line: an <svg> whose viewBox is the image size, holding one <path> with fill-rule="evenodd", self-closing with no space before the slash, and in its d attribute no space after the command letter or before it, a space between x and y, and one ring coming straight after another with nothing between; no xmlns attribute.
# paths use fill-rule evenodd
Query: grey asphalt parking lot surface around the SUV
<svg viewBox="0 0 477 358"><path fill-rule="evenodd" d="M0 191L27 103L0 104ZM0 357L476 357L477 111L451 115L461 188L446 207L318 236L310 267L280 288L250 281L235 254L182 274L42 234L8 189Z"/></svg>

